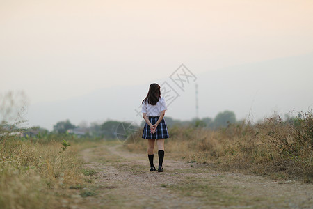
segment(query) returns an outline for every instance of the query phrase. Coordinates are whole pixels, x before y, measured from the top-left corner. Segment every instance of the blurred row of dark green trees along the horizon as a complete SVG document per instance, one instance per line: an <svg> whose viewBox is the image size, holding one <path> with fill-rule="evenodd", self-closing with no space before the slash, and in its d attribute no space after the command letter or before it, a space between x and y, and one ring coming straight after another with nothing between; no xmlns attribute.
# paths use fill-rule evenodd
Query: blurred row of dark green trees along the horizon
<svg viewBox="0 0 313 209"><path fill-rule="evenodd" d="M190 121L180 121L166 116L166 124L169 128L175 126L184 126L184 127L196 127L196 128L209 128L216 129L219 127L227 127L231 123L236 123L236 116L232 111L223 111L217 114L213 118L194 118ZM143 120L140 127L142 128L145 124ZM97 137L97 138L106 138L106 139L115 139L118 132L123 132L123 129L129 127L131 130L138 130L139 127L136 125L125 123L121 121L105 121L104 123L82 123L81 125L74 125L70 120L58 121L53 126L53 131L49 132L42 127L31 127L28 130L24 130L21 136L24 137L36 137L43 136L47 134L72 134L79 138L88 138L88 137ZM6 126L0 125L0 130L6 129Z"/></svg>

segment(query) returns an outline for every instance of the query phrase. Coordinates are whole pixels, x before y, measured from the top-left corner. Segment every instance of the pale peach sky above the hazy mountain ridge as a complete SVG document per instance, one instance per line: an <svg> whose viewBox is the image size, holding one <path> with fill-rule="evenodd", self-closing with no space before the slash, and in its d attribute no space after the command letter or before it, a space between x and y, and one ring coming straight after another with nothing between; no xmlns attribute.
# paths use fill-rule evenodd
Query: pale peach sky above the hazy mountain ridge
<svg viewBox="0 0 313 209"><path fill-rule="evenodd" d="M30 105L312 52L310 0L0 0L0 93Z"/></svg>

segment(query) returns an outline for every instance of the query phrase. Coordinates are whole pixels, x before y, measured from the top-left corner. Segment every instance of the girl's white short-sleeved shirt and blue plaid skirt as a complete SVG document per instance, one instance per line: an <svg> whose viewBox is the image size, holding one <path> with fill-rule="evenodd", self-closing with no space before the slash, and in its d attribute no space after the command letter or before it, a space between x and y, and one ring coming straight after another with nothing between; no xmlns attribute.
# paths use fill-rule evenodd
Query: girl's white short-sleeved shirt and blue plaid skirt
<svg viewBox="0 0 313 209"><path fill-rule="evenodd" d="M150 123L154 125L159 120L161 111L166 109L166 102L164 98L161 97L155 105L151 105L147 101L144 102L141 112L147 114ZM167 139L168 137L170 136L168 134L168 127L164 118L162 118L161 122L157 126L156 132L153 134L150 132L150 126L147 122L145 123L145 126L143 127L143 139Z"/></svg>

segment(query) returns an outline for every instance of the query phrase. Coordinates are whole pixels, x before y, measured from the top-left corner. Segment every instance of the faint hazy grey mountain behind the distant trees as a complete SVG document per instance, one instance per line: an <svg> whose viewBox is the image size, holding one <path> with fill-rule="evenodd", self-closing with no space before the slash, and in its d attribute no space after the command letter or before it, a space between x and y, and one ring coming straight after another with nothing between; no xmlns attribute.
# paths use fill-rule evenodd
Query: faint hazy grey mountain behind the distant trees
<svg viewBox="0 0 313 209"><path fill-rule="evenodd" d="M190 69L192 71L192 69ZM171 72L170 72L171 73ZM169 75L170 75L169 73ZM169 76L168 75L168 76ZM208 69L195 75L198 83L199 116L214 118L220 111L234 111L238 119L257 120L293 109L313 108L313 53L282 59L237 65L223 69ZM195 83L179 89L168 77L156 82L168 82L179 93L166 115L187 120L195 117ZM136 110L147 94L150 83L134 86L113 86L77 98L31 105L29 125L51 130L58 121L136 121Z"/></svg>

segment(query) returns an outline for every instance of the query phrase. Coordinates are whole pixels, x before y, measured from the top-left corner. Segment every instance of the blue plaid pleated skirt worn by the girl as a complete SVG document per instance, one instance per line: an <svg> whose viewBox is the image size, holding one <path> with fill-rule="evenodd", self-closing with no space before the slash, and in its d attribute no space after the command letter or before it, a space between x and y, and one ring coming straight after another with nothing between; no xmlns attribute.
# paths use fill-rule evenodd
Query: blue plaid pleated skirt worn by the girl
<svg viewBox="0 0 313 209"><path fill-rule="evenodd" d="M159 120L159 116L150 116L149 121L151 124L157 123ZM169 136L168 134L168 127L166 126L166 123L164 121L164 118L162 118L162 121L159 123L157 130L155 130L154 134L150 133L150 126L145 123L145 127L143 127L143 139L167 139Z"/></svg>

